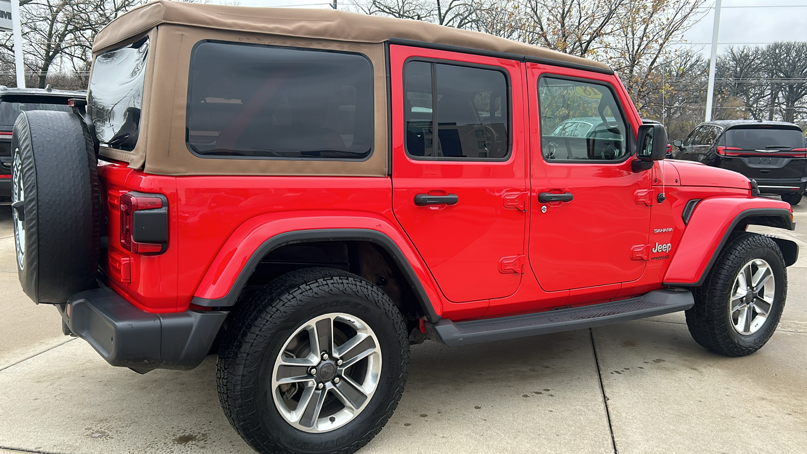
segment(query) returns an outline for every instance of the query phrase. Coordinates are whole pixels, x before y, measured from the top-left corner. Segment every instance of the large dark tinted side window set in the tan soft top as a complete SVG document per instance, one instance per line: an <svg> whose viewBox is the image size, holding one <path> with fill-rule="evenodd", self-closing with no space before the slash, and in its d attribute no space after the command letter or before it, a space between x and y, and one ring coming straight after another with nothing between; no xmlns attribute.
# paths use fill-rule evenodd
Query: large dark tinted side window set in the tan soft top
<svg viewBox="0 0 807 454"><path fill-rule="evenodd" d="M365 56L203 41L190 58L192 153L263 159L372 153L373 68Z"/></svg>

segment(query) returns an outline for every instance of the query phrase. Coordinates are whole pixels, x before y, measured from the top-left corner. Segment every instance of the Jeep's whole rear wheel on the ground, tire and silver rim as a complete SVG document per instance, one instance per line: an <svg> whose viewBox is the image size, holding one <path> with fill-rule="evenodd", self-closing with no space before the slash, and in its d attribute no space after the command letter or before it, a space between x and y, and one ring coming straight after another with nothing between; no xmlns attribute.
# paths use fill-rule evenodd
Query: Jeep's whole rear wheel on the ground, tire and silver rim
<svg viewBox="0 0 807 454"><path fill-rule="evenodd" d="M381 430L403 392L409 346L389 297L357 275L307 268L240 302L218 389L258 452L349 453Z"/></svg>

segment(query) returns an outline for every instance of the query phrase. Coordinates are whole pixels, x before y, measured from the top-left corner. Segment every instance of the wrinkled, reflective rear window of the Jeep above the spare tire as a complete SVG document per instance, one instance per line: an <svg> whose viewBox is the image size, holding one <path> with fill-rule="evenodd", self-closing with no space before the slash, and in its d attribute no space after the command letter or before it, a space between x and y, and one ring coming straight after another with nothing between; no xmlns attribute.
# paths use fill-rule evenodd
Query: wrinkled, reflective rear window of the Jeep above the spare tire
<svg viewBox="0 0 807 454"><path fill-rule="evenodd" d="M148 38L98 55L90 78L87 113L98 141L131 151L140 132Z"/></svg>

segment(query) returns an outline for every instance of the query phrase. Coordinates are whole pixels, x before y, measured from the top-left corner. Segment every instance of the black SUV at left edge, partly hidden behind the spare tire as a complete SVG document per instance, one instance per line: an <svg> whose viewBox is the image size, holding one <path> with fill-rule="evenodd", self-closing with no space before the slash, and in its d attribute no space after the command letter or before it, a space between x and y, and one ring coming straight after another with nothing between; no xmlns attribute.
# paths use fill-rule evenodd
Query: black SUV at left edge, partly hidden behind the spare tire
<svg viewBox="0 0 807 454"><path fill-rule="evenodd" d="M7 88L0 85L0 205L11 203L11 129L21 111L71 111L67 100L86 98L84 90Z"/></svg>

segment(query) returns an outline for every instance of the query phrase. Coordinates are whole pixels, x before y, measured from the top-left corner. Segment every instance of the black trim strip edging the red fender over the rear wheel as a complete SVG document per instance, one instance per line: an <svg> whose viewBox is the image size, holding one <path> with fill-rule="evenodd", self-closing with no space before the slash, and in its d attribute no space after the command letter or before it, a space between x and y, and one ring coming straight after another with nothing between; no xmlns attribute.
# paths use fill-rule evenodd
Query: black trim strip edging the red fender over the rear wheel
<svg viewBox="0 0 807 454"><path fill-rule="evenodd" d="M241 290L243 290L247 281L249 280L249 277L253 274L253 271L255 271L258 263L261 262L261 259L263 259L266 254L269 254L272 250L287 244L328 241L365 241L372 242L383 247L384 250L387 250L387 253L390 254L391 258L395 261L395 265L397 265L400 271L403 272L403 276L406 278L407 282L412 288L412 292L414 292L417 298L420 309L423 309L426 321L436 323L440 320L440 316L434 311L434 307L429 300L429 296L426 294L426 291L423 288L423 284L420 283L415 270L412 269L412 265L408 262L406 256L403 255L403 252L401 252L398 245L392 241L392 238L389 238L384 233L370 229L310 229L279 233L278 235L275 235L274 237L263 242L261 246L258 246L258 248L249 257L249 260L245 266L241 268L241 271L236 278L236 282L232 284L232 287L227 292L227 295L216 299L194 296L190 301L190 304L203 307L229 307L235 305Z"/></svg>

